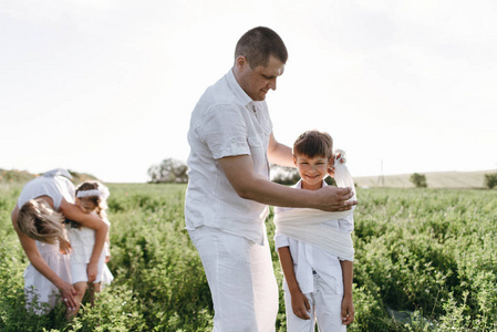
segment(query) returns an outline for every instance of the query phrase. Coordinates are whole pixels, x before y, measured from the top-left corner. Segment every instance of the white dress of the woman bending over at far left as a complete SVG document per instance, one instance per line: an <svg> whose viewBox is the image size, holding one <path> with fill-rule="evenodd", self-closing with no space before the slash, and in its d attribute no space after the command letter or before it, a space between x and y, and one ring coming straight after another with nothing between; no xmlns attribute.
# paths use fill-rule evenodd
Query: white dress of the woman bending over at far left
<svg viewBox="0 0 497 332"><path fill-rule="evenodd" d="M71 175L65 169L59 168L32 179L22 188L18 208L20 209L30 199L49 196L53 199L54 209L59 211L62 198L69 203L74 201L74 186L68 178L71 178ZM72 283L69 256L59 251L59 243L49 245L40 241L35 243L50 269L62 280ZM24 270L24 293L27 309L33 310L37 314L48 313L60 299L59 289L31 263Z"/></svg>

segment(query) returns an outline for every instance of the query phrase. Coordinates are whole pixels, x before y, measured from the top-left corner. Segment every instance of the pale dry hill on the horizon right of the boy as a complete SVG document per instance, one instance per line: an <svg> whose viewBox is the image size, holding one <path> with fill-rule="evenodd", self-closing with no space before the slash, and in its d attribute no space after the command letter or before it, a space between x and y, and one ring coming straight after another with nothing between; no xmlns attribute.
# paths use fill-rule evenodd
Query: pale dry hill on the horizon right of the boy
<svg viewBox="0 0 497 332"><path fill-rule="evenodd" d="M433 172L422 173L426 176L428 188L487 188L485 174L495 174L497 170L478 172ZM413 188L410 177L412 174L384 175L383 181L380 176L354 177L359 187L390 187Z"/></svg>

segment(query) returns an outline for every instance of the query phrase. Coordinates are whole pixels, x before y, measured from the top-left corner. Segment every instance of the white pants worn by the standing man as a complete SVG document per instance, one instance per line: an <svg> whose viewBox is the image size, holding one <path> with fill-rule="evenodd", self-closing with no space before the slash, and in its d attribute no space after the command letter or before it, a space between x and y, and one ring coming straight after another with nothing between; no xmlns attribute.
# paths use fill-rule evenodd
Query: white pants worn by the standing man
<svg viewBox="0 0 497 332"><path fill-rule="evenodd" d="M201 226L188 231L197 248L214 302L215 332L273 332L278 284L265 246Z"/></svg>

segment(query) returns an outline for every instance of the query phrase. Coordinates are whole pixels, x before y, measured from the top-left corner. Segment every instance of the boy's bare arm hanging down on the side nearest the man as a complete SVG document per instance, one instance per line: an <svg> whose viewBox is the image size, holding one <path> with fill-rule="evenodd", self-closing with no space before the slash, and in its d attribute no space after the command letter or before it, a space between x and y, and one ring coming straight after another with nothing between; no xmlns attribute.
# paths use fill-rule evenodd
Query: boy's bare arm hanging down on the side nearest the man
<svg viewBox="0 0 497 332"><path fill-rule="evenodd" d="M297 282L290 248L278 248L278 255L280 257L281 269L283 270L284 278L287 279L288 290L291 295L291 309L298 318L309 320L310 318L308 312L311 310L311 307L308 298L306 298L306 295L300 291L299 283Z"/></svg>

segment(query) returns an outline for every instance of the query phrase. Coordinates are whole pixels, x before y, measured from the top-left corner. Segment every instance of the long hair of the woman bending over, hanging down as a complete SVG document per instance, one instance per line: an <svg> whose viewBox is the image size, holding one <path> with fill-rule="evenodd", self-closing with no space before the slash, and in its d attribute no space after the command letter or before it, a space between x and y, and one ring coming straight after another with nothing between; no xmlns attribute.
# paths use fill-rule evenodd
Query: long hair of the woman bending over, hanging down
<svg viewBox="0 0 497 332"><path fill-rule="evenodd" d="M64 216L55 211L43 198L30 199L19 210L18 227L33 240L50 245L64 238Z"/></svg>

